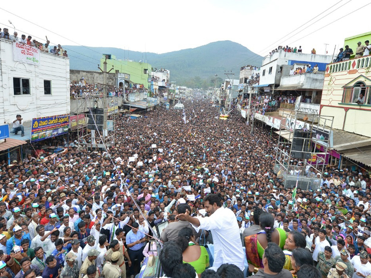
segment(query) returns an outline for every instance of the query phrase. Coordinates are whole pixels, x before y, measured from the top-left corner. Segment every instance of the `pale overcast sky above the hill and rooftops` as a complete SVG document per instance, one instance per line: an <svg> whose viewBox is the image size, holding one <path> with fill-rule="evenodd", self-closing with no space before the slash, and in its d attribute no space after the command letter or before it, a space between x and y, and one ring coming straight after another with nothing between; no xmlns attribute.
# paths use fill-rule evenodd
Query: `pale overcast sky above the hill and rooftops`
<svg viewBox="0 0 371 278"><path fill-rule="evenodd" d="M339 45L343 46L344 38L370 31L367 18L371 5L346 16L368 3L361 0L65 0L35 4L18 0L1 5L0 9L4 10L0 10L0 27L11 26L10 20L19 36L30 34L39 41L47 35L53 44L119 47L141 52L164 53L232 40L261 56L278 45L301 45L304 53L310 53L314 47L317 54L324 54L325 43L328 54L332 54L335 44L335 53ZM336 19L340 20L326 26ZM321 27L324 28L310 34ZM13 27L9 31L13 33Z"/></svg>

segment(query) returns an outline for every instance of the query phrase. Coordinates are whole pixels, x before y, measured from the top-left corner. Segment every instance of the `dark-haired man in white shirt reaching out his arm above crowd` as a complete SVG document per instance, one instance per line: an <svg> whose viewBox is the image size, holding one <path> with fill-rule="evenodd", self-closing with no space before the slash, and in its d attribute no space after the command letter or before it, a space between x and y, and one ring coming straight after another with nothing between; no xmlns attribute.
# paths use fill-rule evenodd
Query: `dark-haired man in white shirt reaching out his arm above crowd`
<svg viewBox="0 0 371 278"><path fill-rule="evenodd" d="M221 205L216 194L209 194L204 199L209 217L192 217L187 210L177 218L188 221L198 232L210 230L214 241L214 264L211 269L217 270L222 264L234 264L244 270L245 254L240 239L240 231L233 211Z"/></svg>

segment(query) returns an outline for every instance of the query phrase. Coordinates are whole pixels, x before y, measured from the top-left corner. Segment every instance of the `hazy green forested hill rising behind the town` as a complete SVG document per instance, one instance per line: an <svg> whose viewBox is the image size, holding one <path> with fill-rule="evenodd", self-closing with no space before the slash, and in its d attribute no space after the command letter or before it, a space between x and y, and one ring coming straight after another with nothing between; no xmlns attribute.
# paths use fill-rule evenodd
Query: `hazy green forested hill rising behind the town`
<svg viewBox="0 0 371 278"><path fill-rule="evenodd" d="M229 40L209 43L196 48L168 53L142 53L113 47L64 46L70 57L70 69L97 70L102 53L113 54L117 59L140 60L153 68L170 70L170 79L177 85L210 86L214 74L224 79L224 71L232 70L239 79L240 67L244 64L260 66L262 57L243 45ZM192 84L193 83L193 84Z"/></svg>

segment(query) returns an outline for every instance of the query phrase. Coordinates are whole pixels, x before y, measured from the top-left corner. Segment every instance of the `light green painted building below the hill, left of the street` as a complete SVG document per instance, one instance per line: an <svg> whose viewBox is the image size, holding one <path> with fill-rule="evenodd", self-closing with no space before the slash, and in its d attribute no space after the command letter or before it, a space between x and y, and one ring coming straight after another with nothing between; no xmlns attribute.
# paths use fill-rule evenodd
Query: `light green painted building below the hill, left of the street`
<svg viewBox="0 0 371 278"><path fill-rule="evenodd" d="M107 71L113 66L114 69L111 72L116 71L121 76L121 79L125 79L126 82L130 83L143 84L148 91L150 90L151 83L148 83L148 78L151 77L151 64L116 59L114 55L103 54L101 58L101 69L103 69L105 57L107 57Z"/></svg>

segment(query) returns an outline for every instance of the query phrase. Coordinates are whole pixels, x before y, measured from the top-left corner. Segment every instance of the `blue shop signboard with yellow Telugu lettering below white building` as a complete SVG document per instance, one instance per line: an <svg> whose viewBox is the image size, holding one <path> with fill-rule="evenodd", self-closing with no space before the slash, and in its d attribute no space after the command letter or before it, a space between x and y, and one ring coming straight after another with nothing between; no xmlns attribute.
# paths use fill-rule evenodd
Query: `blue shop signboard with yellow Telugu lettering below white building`
<svg viewBox="0 0 371 278"><path fill-rule="evenodd" d="M68 133L69 114L32 119L31 141L36 142Z"/></svg>

